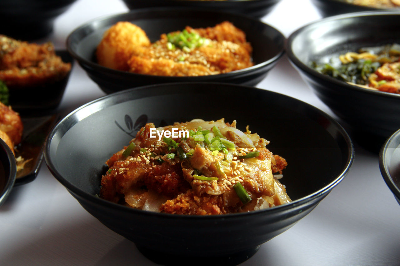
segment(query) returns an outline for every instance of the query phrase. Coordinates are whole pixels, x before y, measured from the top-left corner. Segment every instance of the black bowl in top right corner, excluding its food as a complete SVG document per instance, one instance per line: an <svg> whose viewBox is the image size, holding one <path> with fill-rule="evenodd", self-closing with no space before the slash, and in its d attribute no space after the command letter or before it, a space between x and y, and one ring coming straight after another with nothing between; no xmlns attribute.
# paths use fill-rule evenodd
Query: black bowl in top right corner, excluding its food
<svg viewBox="0 0 400 266"><path fill-rule="evenodd" d="M311 2L312 4L314 4L314 6L316 6L316 8L318 8L318 12L320 12L321 16L323 17L352 12L396 10L390 8L373 8L370 6L359 6L355 4L350 4L345 0L311 0Z"/></svg>

